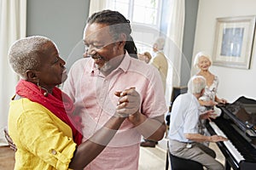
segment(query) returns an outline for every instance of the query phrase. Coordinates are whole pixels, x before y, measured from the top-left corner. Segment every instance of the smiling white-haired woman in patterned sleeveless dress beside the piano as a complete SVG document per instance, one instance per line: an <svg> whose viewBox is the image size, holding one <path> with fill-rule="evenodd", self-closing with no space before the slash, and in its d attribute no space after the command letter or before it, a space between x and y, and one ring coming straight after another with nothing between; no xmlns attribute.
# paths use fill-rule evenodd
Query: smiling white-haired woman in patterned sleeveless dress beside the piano
<svg viewBox="0 0 256 170"><path fill-rule="evenodd" d="M219 99L216 95L219 80L216 75L212 74L212 72L209 71L211 65L212 58L210 55L204 52L199 52L195 55L194 66L195 68L199 69L196 75L205 77L207 81L205 92L199 99L199 103L201 105L201 112L214 110L216 115L219 116L221 111L220 109L215 107L215 105L226 104L227 100ZM201 121L199 123L199 127L201 134L208 135L207 128L205 127L205 121Z"/></svg>

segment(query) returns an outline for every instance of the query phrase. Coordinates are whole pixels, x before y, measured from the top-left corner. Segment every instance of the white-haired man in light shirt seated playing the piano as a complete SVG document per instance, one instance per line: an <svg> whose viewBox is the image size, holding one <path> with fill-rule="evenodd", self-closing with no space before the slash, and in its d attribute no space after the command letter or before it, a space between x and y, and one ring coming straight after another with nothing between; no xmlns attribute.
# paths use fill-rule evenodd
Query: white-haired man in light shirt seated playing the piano
<svg viewBox="0 0 256 170"><path fill-rule="evenodd" d="M187 94L180 94L172 105L170 131L168 133L169 148L173 156L182 157L200 162L207 169L224 169L216 161L215 152L201 142L225 141L226 138L218 135L204 136L198 133L199 119L210 119L212 111L200 115L198 99L204 93L206 79L201 76L189 80Z"/></svg>

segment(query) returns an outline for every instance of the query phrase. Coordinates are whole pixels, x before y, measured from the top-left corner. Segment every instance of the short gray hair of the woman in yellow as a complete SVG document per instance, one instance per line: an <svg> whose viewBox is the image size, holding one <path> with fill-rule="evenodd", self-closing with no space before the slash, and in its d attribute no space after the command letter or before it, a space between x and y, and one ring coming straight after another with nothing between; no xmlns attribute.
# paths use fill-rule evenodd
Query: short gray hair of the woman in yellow
<svg viewBox="0 0 256 170"><path fill-rule="evenodd" d="M44 53L45 44L52 42L47 37L32 36L21 38L9 48L9 65L23 79L26 79L27 70L38 70L40 56ZM52 42L55 44L54 42Z"/></svg>

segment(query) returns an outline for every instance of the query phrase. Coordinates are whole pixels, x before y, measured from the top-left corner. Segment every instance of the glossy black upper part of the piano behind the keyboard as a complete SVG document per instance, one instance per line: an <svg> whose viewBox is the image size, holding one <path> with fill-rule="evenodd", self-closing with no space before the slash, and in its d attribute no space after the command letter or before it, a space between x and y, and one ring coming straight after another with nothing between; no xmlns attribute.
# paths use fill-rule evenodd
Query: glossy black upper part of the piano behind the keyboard
<svg viewBox="0 0 256 170"><path fill-rule="evenodd" d="M241 96L234 103L226 105L225 108L236 116L236 123L242 124L243 130L250 128L256 132L256 100Z"/></svg>

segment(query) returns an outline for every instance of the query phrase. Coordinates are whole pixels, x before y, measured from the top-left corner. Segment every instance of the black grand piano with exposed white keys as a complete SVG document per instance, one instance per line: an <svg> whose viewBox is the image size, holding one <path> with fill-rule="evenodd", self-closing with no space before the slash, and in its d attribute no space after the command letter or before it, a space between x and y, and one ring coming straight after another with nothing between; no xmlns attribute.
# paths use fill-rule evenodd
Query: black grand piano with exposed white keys
<svg viewBox="0 0 256 170"><path fill-rule="evenodd" d="M225 168L256 170L256 100L242 96L218 108L221 116L207 122L207 130L229 139L217 143L225 156Z"/></svg>

